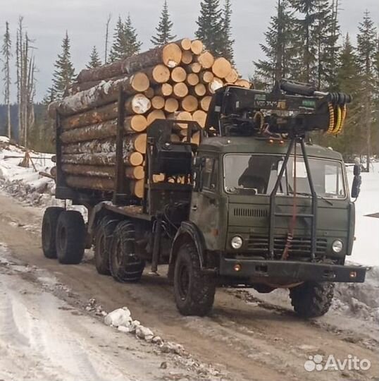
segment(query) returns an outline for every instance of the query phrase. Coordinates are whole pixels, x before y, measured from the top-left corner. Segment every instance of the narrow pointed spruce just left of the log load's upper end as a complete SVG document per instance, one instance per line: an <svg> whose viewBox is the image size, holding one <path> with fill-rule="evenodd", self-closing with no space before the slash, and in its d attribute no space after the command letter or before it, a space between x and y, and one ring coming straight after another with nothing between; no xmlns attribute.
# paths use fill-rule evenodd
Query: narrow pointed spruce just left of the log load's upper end
<svg viewBox="0 0 379 381"><path fill-rule="evenodd" d="M75 68L71 62L71 44L68 32L63 38L62 53L54 64L53 92L56 99L62 99L75 78Z"/></svg>

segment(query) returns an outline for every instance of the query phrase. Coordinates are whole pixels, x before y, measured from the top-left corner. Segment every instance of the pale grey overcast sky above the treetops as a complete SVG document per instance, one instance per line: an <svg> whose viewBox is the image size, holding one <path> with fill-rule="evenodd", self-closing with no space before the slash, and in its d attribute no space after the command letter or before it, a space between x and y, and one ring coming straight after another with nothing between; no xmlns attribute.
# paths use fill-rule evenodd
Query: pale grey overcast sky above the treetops
<svg viewBox="0 0 379 381"><path fill-rule="evenodd" d="M375 24L379 25L379 0L341 1L340 24L343 33L356 34L366 9L371 12ZM223 0L220 2L223 3ZM199 15L199 3L200 0L168 0L178 37L192 37ZM253 71L251 61L262 56L259 43L263 42L263 32L275 12L276 0L233 0L232 3L235 61L240 73L247 76ZM37 99L41 99L51 85L54 61L61 50L61 40L66 30L71 38L73 62L79 72L87 63L93 45L104 56L108 13L113 16L112 32L118 15L125 18L130 13L139 39L144 43L142 49L149 49L149 40L162 4L163 0L0 0L0 32L4 34L5 21L8 20L15 42L18 16L24 16L25 27L30 37L35 39L37 48Z"/></svg>

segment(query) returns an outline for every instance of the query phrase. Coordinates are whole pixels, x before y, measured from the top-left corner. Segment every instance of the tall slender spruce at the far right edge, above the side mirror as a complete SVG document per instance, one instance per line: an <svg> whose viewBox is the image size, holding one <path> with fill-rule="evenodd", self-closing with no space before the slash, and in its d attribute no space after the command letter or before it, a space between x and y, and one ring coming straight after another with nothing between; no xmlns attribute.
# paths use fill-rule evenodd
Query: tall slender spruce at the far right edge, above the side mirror
<svg viewBox="0 0 379 381"><path fill-rule="evenodd" d="M358 63L361 72L361 121L366 133L366 165L370 170L370 160L372 152L371 133L373 129L373 109L375 102L375 57L377 53L376 33L377 30L370 16L366 11L364 20L359 24L359 34L356 36Z"/></svg>

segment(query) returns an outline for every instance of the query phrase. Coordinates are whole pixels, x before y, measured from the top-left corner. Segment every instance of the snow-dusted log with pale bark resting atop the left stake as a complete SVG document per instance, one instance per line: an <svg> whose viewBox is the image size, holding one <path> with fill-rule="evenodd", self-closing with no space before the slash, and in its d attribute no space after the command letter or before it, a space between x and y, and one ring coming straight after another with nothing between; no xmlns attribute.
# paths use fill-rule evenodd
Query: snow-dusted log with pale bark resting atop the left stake
<svg viewBox="0 0 379 381"><path fill-rule="evenodd" d="M149 88L149 84L149 78L144 73L137 73L130 78L122 80L111 80L102 85L92 87L92 89L66 97L61 102L53 102L53 104L49 105L49 115L51 118L55 118L56 113L54 109L62 116L70 116L95 107L104 106L104 104L116 102L120 90L124 90L132 95L137 92L146 91Z"/></svg>

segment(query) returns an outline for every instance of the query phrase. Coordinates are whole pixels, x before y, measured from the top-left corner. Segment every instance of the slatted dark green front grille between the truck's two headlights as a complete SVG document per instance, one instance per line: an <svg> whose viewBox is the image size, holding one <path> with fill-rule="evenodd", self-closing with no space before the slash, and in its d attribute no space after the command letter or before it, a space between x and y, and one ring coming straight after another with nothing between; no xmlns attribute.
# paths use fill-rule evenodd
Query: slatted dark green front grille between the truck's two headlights
<svg viewBox="0 0 379 381"><path fill-rule="evenodd" d="M274 255L275 258L280 258L285 249L287 237L280 236L274 238ZM316 256L323 257L326 254L328 241L326 238L316 238ZM247 243L247 248L250 253L256 255L266 255L268 253L268 236L250 236ZM294 237L289 250L290 257L309 257L311 255L311 238Z"/></svg>

